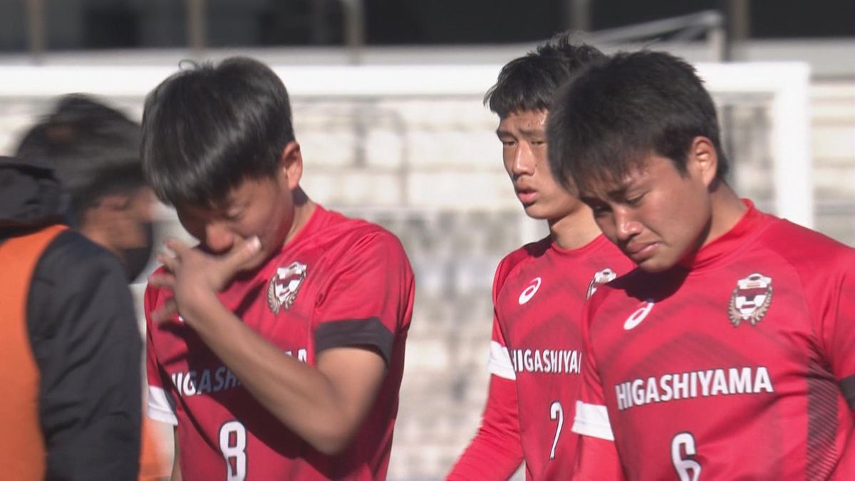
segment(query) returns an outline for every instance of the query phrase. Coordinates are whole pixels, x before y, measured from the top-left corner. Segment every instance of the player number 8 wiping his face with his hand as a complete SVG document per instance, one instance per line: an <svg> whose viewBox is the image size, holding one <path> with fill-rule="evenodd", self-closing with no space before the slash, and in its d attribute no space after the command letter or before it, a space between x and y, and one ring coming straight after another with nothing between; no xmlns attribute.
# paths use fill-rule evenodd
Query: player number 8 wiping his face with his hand
<svg viewBox="0 0 855 481"><path fill-rule="evenodd" d="M200 242L168 241L145 294L173 478L385 478L413 273L392 234L304 193L282 81L241 57L172 75L142 152Z"/></svg>

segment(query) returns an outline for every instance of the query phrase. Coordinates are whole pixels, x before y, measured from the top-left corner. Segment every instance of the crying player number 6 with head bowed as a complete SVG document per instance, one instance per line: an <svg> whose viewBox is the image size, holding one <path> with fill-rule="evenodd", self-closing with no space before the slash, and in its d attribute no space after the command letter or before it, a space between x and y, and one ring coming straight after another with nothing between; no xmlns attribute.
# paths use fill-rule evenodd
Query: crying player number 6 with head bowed
<svg viewBox="0 0 855 481"><path fill-rule="evenodd" d="M726 181L716 109L666 53L557 96L550 163L639 268L583 317L577 478L853 479L855 250Z"/></svg>

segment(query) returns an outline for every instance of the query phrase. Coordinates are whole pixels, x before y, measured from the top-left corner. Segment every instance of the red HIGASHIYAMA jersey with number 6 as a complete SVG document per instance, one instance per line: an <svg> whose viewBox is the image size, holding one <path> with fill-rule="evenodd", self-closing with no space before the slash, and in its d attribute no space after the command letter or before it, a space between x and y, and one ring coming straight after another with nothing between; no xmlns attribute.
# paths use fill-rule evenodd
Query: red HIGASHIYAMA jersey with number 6
<svg viewBox="0 0 855 481"><path fill-rule="evenodd" d="M855 479L855 250L746 204L587 306L573 430L628 479Z"/></svg>

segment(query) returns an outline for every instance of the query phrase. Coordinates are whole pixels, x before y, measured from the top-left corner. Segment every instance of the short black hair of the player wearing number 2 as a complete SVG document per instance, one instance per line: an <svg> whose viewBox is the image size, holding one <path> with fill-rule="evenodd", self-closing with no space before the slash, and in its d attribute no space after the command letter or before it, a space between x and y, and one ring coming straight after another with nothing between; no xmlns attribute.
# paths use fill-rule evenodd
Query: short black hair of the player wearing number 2
<svg viewBox="0 0 855 481"><path fill-rule="evenodd" d="M582 66L604 57L591 45L574 40L574 33L559 33L526 56L508 62L484 104L500 118L526 110L547 111L553 95Z"/></svg>

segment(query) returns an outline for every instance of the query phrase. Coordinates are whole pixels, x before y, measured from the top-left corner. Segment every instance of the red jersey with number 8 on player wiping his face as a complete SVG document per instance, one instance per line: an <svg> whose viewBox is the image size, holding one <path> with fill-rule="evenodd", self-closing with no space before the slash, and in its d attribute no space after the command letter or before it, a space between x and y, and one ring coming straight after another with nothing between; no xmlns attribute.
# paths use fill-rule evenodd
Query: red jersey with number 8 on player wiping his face
<svg viewBox="0 0 855 481"><path fill-rule="evenodd" d="M336 456L268 413L180 318L147 319L149 414L178 425L184 478L385 478L414 288L394 235L317 206L292 241L219 295L252 330L309 365L322 350L345 346L373 347L386 360L372 411ZM149 287L145 312L169 296Z"/></svg>

